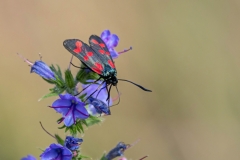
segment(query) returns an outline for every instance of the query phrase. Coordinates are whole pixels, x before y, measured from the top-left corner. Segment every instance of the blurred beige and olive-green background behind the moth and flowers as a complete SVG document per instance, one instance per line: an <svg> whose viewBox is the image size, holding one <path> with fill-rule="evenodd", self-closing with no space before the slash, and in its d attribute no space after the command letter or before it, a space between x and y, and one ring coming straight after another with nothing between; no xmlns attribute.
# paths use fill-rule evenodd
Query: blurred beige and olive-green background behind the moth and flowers
<svg viewBox="0 0 240 160"><path fill-rule="evenodd" d="M1 160L39 159L39 148L55 142L39 121L67 135L47 107L57 97L38 102L51 85L16 53L31 61L41 53L65 70L71 54L62 42L87 42L105 29L119 36L118 51L133 47L115 61L118 78L153 92L119 82L120 105L79 135L82 154L96 160L119 141L140 139L128 159L240 159L240 1L2 0L0 13Z"/></svg>

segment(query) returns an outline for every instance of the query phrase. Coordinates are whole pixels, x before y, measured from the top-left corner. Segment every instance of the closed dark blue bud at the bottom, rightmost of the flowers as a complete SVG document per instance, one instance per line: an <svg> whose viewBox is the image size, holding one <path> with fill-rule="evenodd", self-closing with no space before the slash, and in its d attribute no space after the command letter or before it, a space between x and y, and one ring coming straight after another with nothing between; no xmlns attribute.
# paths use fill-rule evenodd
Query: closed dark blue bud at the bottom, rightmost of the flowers
<svg viewBox="0 0 240 160"><path fill-rule="evenodd" d="M114 159L119 156L123 156L123 152L129 147L123 142L119 142L115 148L113 148L108 154L105 156L107 160Z"/></svg>

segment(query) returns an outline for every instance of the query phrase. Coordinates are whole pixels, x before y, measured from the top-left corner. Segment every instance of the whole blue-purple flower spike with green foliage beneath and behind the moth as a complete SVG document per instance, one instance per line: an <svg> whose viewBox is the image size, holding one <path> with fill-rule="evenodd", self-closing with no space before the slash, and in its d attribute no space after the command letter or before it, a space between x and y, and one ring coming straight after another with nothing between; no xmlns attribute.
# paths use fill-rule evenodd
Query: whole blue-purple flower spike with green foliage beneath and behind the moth
<svg viewBox="0 0 240 160"><path fill-rule="evenodd" d="M99 46L106 46L110 52L110 56L115 59L119 57L122 52L117 52L115 48L119 43L119 38L116 34L111 34L109 30L105 30L101 34L101 39L105 44ZM95 43L95 42L94 42ZM77 45L79 47L80 45ZM77 48L81 51L81 48ZM106 53L107 54L107 53ZM109 53L108 53L109 54ZM66 136L63 140L59 135L55 134L52 137L56 139L57 143L52 143L41 154L41 160L81 160L90 158L84 156L80 152L80 145L83 143L82 138L78 138L78 133L84 133L84 128L102 122L103 115L111 115L110 106L113 104L113 99L110 97L108 90L108 83L99 74L94 72L94 69L88 68L84 64L79 67L79 71L74 76L69 69L64 74L59 66L48 66L42 60L34 63L18 54L25 62L31 66L31 73L36 73L41 76L46 82L53 85L50 93L44 95L39 100L58 96L49 108L54 109L61 117L57 123L62 123L59 129L65 129L71 136ZM87 58L92 56L92 53L87 53ZM113 65L109 62L110 65ZM100 67L98 68L101 69ZM79 91L79 86L82 90ZM110 86L111 87L111 86ZM119 98L119 97L118 97ZM116 147L104 154L101 160L111 160L116 157L123 156L124 151L129 148L123 142L119 142ZM22 160L36 160L32 155L28 155ZM121 157L119 160L126 160Z"/></svg>

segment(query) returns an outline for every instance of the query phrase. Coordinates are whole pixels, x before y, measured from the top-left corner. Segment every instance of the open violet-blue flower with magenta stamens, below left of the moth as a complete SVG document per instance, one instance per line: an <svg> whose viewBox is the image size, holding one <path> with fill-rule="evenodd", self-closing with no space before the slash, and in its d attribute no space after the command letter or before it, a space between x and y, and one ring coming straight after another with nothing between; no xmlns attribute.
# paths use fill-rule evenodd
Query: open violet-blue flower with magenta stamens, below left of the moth
<svg viewBox="0 0 240 160"><path fill-rule="evenodd" d="M89 117L89 113L84 107L85 104L77 97L68 93L59 95L59 97L60 99L54 101L51 108L54 108L58 113L62 114L62 121L64 120L64 124L67 127L73 125L77 119L86 119Z"/></svg>

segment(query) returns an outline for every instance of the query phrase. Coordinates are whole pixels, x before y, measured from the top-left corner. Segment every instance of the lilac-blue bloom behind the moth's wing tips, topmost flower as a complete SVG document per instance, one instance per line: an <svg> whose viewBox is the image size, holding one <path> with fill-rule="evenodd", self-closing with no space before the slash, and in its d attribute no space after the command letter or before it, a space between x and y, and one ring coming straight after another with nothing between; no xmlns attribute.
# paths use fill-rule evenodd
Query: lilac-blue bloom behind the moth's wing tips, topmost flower
<svg viewBox="0 0 240 160"><path fill-rule="evenodd" d="M116 34L111 34L109 30L104 30L101 34L101 38L106 43L113 59L118 58L119 54L127 52L132 49L132 47L130 47L128 50L117 52L114 48L117 47L119 38Z"/></svg>

